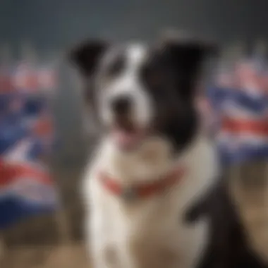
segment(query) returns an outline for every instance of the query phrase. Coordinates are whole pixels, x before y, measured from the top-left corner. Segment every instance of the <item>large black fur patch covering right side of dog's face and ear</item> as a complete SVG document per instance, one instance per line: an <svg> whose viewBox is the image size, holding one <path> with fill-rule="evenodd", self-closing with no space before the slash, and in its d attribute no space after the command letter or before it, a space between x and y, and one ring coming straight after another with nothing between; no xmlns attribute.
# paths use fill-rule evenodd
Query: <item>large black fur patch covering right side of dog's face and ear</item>
<svg viewBox="0 0 268 268"><path fill-rule="evenodd" d="M183 150L197 133L194 97L197 75L207 47L200 42L163 42L148 50L140 78L157 111L154 130Z"/></svg>

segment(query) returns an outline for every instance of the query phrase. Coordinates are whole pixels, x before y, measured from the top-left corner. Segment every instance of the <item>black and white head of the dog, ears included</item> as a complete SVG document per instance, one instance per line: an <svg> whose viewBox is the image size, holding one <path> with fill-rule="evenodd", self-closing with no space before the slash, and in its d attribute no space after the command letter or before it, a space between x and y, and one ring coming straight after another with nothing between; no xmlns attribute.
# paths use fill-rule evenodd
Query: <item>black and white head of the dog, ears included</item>
<svg viewBox="0 0 268 268"><path fill-rule="evenodd" d="M112 45L89 40L71 51L99 122L122 150L157 136L182 150L197 133L197 75L214 50L195 39Z"/></svg>

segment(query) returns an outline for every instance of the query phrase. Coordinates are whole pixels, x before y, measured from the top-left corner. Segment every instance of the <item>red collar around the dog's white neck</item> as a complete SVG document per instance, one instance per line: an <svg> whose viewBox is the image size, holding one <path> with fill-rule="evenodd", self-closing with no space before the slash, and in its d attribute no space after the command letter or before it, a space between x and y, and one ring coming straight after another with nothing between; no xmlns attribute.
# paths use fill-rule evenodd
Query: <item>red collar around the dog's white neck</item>
<svg viewBox="0 0 268 268"><path fill-rule="evenodd" d="M162 193L166 188L171 187L181 180L185 174L185 169L182 166L172 170L168 175L159 178L157 181L149 183L140 183L137 185L128 186L124 188L123 185L118 183L114 178L111 178L107 173L100 172L99 178L102 185L106 190L122 197L124 200L138 200L141 198L150 197L157 193Z"/></svg>

